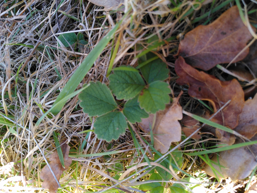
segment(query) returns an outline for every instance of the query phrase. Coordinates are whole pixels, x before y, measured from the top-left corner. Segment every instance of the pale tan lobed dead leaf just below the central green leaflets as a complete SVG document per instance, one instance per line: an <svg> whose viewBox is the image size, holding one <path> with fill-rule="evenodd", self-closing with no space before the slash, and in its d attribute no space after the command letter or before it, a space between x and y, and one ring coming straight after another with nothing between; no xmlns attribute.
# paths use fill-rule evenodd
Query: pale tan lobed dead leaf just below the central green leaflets
<svg viewBox="0 0 257 193"><path fill-rule="evenodd" d="M182 107L179 104L179 98L182 91L177 98L173 99L170 105L166 105L163 111L156 113L155 125L153 127L154 148L161 153L168 152L171 142L177 142L181 139L181 126L178 120L181 120ZM142 119L139 127L146 133L150 132L150 125L153 124L154 115L150 114L148 118Z"/></svg>

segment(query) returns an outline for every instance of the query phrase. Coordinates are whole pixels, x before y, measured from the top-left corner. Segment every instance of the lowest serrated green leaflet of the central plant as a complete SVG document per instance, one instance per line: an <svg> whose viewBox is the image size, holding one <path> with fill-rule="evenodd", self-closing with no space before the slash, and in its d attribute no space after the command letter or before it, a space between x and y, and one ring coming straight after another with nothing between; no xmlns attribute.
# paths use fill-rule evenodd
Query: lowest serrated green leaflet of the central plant
<svg viewBox="0 0 257 193"><path fill-rule="evenodd" d="M125 133L127 122L121 112L115 111L97 117L94 127L97 138L110 142L112 139L116 140Z"/></svg>

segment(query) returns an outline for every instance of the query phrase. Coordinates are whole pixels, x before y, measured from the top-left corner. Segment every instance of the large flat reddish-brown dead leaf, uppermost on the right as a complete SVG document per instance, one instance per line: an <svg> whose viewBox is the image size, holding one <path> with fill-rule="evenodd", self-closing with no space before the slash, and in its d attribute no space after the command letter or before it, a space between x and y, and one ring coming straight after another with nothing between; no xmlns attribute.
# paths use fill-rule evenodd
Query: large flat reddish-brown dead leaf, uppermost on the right
<svg viewBox="0 0 257 193"><path fill-rule="evenodd" d="M253 28L253 31L256 31ZM210 70L216 64L229 63L252 39L248 28L242 22L237 6L225 11L213 23L199 25L185 35L175 56L182 56L193 67ZM249 53L243 51L234 62Z"/></svg>

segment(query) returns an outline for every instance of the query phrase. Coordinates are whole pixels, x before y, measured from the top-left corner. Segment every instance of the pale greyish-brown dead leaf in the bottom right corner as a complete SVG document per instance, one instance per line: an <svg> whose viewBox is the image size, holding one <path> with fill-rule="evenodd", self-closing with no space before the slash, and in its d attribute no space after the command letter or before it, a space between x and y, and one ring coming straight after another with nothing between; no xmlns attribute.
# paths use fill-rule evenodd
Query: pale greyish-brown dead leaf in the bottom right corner
<svg viewBox="0 0 257 193"><path fill-rule="evenodd" d="M239 141L237 140L236 143L239 143ZM221 176L216 172L217 177L220 179L229 177L233 181L248 177L257 166L255 159L257 152L254 146L256 145L222 151L219 152L219 155L215 154L211 160L217 165L212 164L212 166L222 174ZM218 160L217 156L219 156ZM216 177L209 165L206 165L203 170L208 175Z"/></svg>

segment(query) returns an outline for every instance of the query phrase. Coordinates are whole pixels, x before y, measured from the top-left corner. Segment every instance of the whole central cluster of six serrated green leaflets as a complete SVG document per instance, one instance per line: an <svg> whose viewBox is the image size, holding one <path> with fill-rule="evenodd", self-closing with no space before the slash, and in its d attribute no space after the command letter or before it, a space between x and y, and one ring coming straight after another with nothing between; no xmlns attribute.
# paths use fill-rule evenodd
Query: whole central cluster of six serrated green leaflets
<svg viewBox="0 0 257 193"><path fill-rule="evenodd" d="M98 138L107 142L116 140L125 133L126 118L131 123L141 122L142 118L149 116L148 113L163 110L169 103L169 85L161 81L168 78L166 64L156 60L140 70L148 85L145 85L138 70L121 66L109 76L110 89L100 82L90 82L89 87L79 94L83 112L98 116L94 124ZM127 100L126 103L119 102L118 106L112 93L117 100Z"/></svg>

